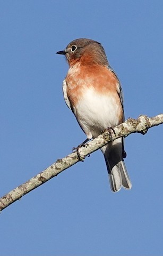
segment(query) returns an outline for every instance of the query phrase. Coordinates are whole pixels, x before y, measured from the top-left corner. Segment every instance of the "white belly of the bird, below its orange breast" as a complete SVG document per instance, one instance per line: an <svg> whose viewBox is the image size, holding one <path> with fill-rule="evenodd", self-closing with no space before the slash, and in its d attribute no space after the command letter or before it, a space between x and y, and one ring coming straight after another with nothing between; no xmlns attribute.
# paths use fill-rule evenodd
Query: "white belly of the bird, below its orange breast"
<svg viewBox="0 0 163 256"><path fill-rule="evenodd" d="M99 95L93 88L89 88L76 105L74 114L85 134L91 139L107 127L118 125L120 110L114 97L109 94Z"/></svg>

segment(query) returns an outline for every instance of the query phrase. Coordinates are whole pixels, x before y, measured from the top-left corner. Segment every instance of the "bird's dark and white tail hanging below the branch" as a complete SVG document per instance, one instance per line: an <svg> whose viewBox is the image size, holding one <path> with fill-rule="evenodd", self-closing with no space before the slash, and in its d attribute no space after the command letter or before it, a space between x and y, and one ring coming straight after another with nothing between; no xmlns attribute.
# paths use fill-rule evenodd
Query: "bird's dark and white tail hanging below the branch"
<svg viewBox="0 0 163 256"><path fill-rule="evenodd" d="M113 142L101 148L107 165L111 190L117 192L121 187L131 189L131 181L122 156L122 143L116 140Z"/></svg>

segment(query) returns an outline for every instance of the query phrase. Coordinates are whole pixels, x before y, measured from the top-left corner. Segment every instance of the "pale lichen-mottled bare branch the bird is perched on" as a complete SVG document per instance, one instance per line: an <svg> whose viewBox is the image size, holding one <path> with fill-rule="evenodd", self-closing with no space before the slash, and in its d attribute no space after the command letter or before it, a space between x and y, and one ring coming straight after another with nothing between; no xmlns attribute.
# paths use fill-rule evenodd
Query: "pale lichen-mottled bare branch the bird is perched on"
<svg viewBox="0 0 163 256"><path fill-rule="evenodd" d="M114 127L114 131L104 131L96 139L90 141L87 144L87 147L79 148L80 157L75 151L62 159L57 159L57 161L47 169L0 198L0 211L4 210L7 206L14 203L22 196L28 194L31 190L57 176L68 167L81 161L81 159L83 160L86 156L106 145L109 141L114 141L119 137L127 137L129 134L135 132L145 134L149 128L162 123L163 114L151 118L141 115L138 119L128 118L126 122Z"/></svg>

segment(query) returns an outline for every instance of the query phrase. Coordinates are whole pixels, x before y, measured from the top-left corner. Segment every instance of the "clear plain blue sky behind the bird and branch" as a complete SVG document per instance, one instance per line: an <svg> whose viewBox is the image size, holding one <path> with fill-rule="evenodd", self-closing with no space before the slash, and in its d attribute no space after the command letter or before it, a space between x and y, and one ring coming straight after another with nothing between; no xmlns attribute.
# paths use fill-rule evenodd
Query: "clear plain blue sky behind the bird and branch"
<svg viewBox="0 0 163 256"><path fill-rule="evenodd" d="M65 105L61 55L102 43L123 87L125 117L163 112L163 2L0 1L0 196L85 139ZM163 126L126 138L130 191L110 191L100 151L0 215L2 256L163 255Z"/></svg>

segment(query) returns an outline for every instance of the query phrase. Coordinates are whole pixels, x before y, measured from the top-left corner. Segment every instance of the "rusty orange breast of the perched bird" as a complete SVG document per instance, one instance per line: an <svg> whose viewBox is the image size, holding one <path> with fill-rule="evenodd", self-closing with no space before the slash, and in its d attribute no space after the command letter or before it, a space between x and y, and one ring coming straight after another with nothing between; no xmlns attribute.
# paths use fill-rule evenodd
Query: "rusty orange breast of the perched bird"
<svg viewBox="0 0 163 256"><path fill-rule="evenodd" d="M85 57L86 58L86 57ZM123 109L119 98L119 82L107 67L101 65L89 65L90 59L76 63L68 70L66 76L67 96L71 106L75 107L79 100L84 97L85 90L92 87L99 94L115 97L119 105L119 123L123 122Z"/></svg>

